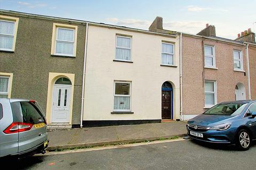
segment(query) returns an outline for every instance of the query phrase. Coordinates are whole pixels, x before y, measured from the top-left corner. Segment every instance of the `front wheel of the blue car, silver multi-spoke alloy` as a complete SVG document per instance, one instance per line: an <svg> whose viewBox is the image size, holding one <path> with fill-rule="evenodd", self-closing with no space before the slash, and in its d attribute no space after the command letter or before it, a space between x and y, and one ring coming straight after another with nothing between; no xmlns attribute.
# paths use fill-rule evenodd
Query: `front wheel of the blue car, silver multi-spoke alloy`
<svg viewBox="0 0 256 170"><path fill-rule="evenodd" d="M251 147L250 133L245 129L241 129L237 133L236 145L240 150L248 150Z"/></svg>

